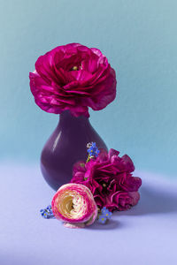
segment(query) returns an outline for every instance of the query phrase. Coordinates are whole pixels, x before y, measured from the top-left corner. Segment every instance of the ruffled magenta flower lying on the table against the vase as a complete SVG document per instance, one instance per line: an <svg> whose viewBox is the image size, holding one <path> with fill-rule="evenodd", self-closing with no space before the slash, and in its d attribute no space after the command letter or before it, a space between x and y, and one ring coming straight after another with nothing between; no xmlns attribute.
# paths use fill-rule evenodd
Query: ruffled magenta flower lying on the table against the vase
<svg viewBox="0 0 177 265"><path fill-rule="evenodd" d="M133 177L134 163L128 155L119 157L119 151L102 151L89 163L79 162L73 166L72 183L88 186L98 208L110 211L126 210L137 204L142 179Z"/></svg>

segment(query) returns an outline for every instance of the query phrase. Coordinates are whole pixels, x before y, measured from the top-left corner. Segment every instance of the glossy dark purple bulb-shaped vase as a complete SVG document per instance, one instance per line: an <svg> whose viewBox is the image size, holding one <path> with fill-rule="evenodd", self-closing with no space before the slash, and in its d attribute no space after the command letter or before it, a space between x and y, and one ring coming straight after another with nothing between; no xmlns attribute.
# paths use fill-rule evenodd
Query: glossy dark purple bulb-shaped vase
<svg viewBox="0 0 177 265"><path fill-rule="evenodd" d="M88 117L73 117L67 110L60 114L58 126L41 155L42 175L54 190L70 182L74 163L87 160L87 143L91 141L107 150Z"/></svg>

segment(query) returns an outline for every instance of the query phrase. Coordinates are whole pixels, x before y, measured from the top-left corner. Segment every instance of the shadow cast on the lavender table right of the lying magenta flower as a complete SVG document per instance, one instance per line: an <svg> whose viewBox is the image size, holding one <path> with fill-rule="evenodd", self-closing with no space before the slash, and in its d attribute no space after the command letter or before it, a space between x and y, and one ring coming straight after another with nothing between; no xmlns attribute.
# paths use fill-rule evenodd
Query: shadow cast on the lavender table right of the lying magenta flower
<svg viewBox="0 0 177 265"><path fill-rule="evenodd" d="M141 188L139 203L130 210L114 213L119 216L142 216L150 214L177 213L177 193L160 191L151 187Z"/></svg>

